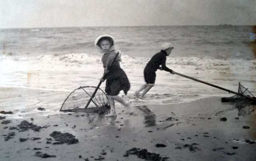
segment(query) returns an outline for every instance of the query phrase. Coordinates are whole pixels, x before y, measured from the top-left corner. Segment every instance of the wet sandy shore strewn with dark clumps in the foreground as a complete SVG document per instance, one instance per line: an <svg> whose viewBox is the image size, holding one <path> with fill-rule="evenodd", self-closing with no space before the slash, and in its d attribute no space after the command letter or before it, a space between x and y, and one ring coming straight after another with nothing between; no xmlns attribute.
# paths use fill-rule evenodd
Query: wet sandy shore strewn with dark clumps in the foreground
<svg viewBox="0 0 256 161"><path fill-rule="evenodd" d="M256 160L255 111L238 116L218 97L141 106L135 99L106 118L59 112L65 92L0 90L1 111L13 112L0 114L1 161Z"/></svg>

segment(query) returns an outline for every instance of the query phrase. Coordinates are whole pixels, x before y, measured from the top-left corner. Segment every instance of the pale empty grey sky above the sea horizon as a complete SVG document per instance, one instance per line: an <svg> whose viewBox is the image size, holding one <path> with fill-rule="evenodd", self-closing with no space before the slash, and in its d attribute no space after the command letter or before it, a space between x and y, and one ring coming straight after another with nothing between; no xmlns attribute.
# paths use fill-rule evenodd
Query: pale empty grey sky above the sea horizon
<svg viewBox="0 0 256 161"><path fill-rule="evenodd" d="M0 0L0 28L256 25L256 0Z"/></svg>

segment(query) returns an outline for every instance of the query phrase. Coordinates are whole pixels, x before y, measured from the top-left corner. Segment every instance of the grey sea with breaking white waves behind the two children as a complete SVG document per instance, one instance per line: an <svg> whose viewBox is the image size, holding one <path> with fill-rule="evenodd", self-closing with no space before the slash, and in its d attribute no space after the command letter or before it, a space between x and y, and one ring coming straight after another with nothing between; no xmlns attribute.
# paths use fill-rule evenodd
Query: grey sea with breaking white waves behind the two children
<svg viewBox="0 0 256 161"><path fill-rule="evenodd" d="M115 48L123 52L120 65L131 84L128 95L145 84L144 67L164 42L174 45L166 66L175 72L234 92L240 82L256 95L256 35L252 26L231 25L0 29L0 88L68 94L80 86L97 86L104 69L94 41L103 34L112 35ZM184 101L186 96L234 95L166 71L156 75L148 94L184 96Z"/></svg>

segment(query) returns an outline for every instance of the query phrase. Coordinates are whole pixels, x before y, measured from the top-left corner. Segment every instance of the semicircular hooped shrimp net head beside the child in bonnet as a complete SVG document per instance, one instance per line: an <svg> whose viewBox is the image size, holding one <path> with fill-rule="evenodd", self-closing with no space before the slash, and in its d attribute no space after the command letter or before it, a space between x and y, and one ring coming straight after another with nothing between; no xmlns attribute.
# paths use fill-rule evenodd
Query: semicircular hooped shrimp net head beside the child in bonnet
<svg viewBox="0 0 256 161"><path fill-rule="evenodd" d="M105 92L98 88L92 102L87 108L86 104L90 100L96 87L80 86L71 92L66 100L64 100L60 111L62 112L88 112L88 113L104 113L110 110L108 97Z"/></svg>

